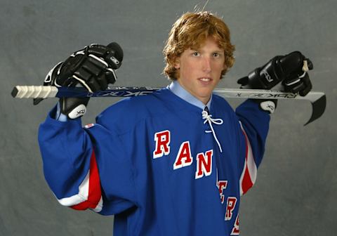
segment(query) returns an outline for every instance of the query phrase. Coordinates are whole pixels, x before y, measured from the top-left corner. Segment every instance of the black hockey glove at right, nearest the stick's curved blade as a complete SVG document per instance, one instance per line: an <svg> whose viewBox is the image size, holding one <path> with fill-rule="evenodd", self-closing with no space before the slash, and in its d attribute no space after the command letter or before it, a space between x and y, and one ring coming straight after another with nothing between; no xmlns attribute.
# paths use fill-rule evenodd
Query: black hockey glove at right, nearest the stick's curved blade
<svg viewBox="0 0 337 236"><path fill-rule="evenodd" d="M312 62L299 51L287 55L277 55L263 67L258 67L237 81L241 89L272 89L282 81L283 90L300 93L305 96L312 89L308 70L312 70ZM255 100L260 107L274 112L277 100ZM274 103L274 105L272 104Z"/></svg>

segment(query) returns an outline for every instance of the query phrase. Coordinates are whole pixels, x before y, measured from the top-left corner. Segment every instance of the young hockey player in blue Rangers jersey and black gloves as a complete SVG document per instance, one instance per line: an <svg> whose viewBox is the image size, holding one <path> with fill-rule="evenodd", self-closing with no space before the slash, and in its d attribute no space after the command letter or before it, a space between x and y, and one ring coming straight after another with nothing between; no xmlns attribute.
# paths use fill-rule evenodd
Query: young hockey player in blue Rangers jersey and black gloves
<svg viewBox="0 0 337 236"><path fill-rule="evenodd" d="M164 48L165 89L121 100L82 127L88 98L61 98L39 129L46 181L58 202L114 215L114 235L239 235L240 197L256 181L275 101L236 111L212 93L232 67L222 19L185 13ZM56 65L45 84L106 89L123 53L93 44ZM272 58L244 88L311 89L301 53Z"/></svg>

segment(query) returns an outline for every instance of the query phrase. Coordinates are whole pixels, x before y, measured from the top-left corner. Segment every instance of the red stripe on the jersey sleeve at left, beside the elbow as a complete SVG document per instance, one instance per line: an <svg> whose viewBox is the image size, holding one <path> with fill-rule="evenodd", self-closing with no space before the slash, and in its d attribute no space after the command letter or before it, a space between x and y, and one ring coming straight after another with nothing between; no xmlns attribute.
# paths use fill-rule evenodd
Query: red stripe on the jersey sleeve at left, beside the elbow
<svg viewBox="0 0 337 236"><path fill-rule="evenodd" d="M98 173L95 152L93 152L90 159L89 189L87 199L86 201L71 207L72 209L76 210L86 210L88 208L95 209L100 202L101 196L102 192L100 190L100 175Z"/></svg>

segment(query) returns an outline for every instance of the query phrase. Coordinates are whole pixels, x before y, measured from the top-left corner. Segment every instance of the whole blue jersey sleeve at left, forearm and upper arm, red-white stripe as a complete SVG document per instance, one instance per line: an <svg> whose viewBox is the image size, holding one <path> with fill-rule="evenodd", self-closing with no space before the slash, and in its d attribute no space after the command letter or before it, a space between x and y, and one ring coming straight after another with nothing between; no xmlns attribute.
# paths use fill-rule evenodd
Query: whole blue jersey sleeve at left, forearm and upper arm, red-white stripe
<svg viewBox="0 0 337 236"><path fill-rule="evenodd" d="M60 122L53 113L39 127L39 145L58 202L108 215L133 206L133 170L119 137L100 124L82 127L81 119Z"/></svg>

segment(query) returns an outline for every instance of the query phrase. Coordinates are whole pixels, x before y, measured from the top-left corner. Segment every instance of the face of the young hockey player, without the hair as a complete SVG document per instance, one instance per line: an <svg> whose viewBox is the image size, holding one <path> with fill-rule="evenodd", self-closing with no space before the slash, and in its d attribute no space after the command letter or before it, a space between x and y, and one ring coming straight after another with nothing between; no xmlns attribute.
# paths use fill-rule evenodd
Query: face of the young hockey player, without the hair
<svg viewBox="0 0 337 236"><path fill-rule="evenodd" d="M206 104L224 70L225 55L213 38L208 38L200 48L188 48L178 58L179 84L192 96Z"/></svg>

